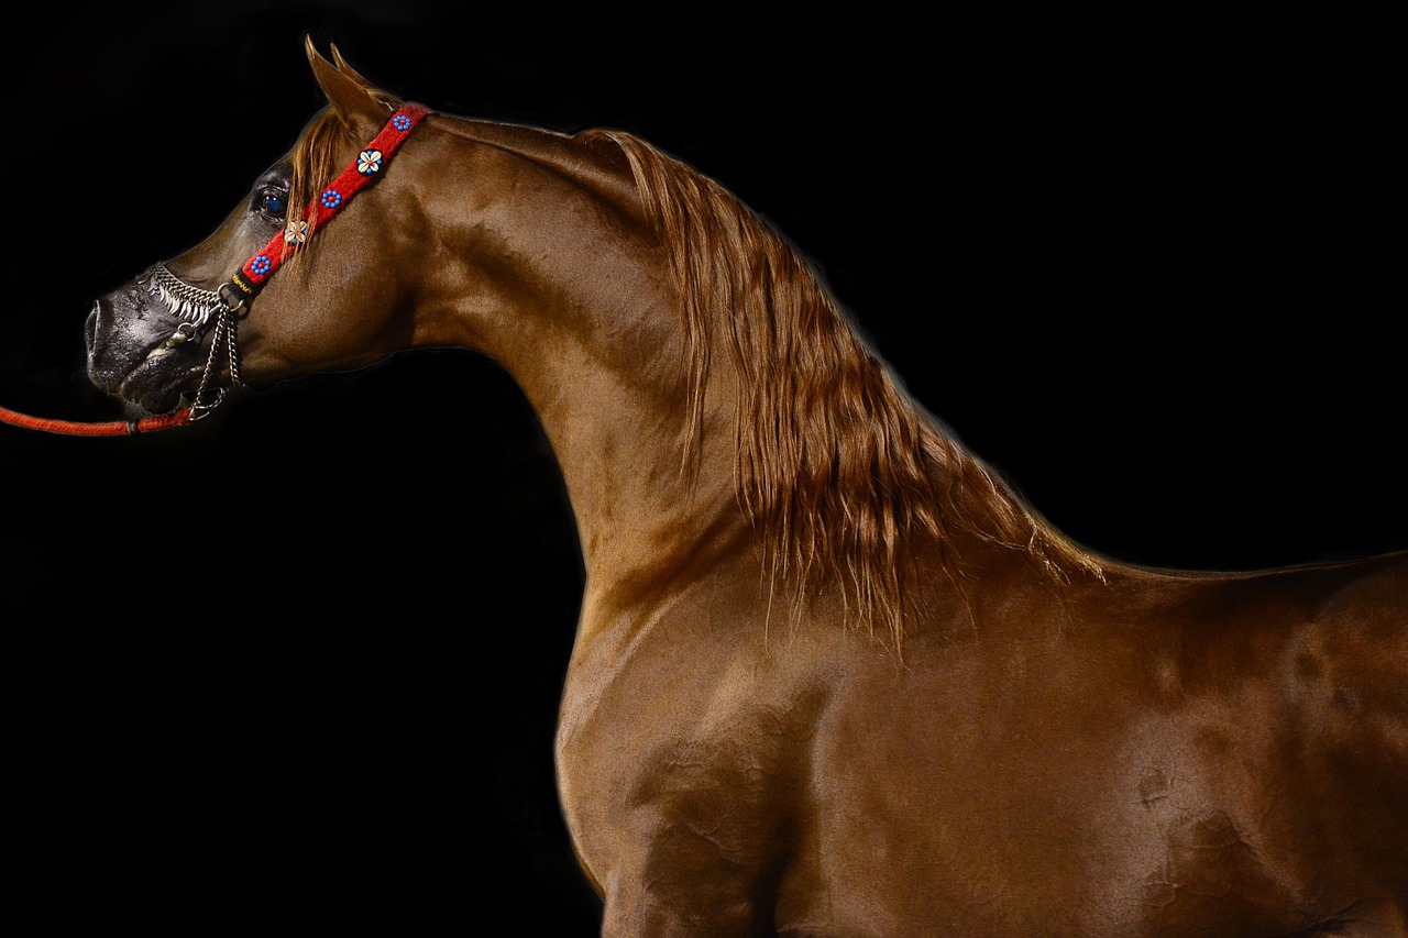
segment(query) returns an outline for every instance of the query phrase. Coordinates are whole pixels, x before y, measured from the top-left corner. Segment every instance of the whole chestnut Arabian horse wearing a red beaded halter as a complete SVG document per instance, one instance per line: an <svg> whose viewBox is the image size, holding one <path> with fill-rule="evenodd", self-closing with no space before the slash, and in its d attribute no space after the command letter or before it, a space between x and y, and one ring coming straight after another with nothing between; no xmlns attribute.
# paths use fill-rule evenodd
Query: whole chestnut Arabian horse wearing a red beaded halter
<svg viewBox="0 0 1408 938"><path fill-rule="evenodd" d="M327 106L96 300L87 375L199 415L413 348L507 370L586 570L555 759L604 935L1408 935L1408 555L1093 552L715 180L306 46Z"/></svg>

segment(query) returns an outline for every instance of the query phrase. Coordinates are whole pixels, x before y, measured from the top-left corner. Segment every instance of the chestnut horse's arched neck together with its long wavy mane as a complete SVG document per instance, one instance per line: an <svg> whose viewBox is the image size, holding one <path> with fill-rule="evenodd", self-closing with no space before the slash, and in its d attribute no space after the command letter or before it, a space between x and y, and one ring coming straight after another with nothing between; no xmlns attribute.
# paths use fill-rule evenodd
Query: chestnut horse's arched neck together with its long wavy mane
<svg viewBox="0 0 1408 938"><path fill-rule="evenodd" d="M777 293L767 280L684 303L681 283L694 296L729 279L662 244L641 196L659 187L646 170L638 192L641 165L627 162L639 154L601 137L442 130L407 152L428 163L434 232L420 344L477 348L527 394L566 479L593 610L729 562L755 565L736 582L781 572L790 590L839 589L898 641L917 551L945 568L993 545L1033 569L1088 565L914 410L800 270L783 276L794 255L769 249ZM686 224L732 215L736 246L758 246L741 208L696 189L705 201ZM755 293L787 314L745 315Z"/></svg>

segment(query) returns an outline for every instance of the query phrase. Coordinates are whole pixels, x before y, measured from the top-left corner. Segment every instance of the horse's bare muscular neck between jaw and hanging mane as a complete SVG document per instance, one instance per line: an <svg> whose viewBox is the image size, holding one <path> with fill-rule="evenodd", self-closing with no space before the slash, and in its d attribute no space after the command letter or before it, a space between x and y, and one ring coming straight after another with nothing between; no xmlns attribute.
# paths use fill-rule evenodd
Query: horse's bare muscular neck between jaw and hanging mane
<svg viewBox="0 0 1408 938"><path fill-rule="evenodd" d="M629 604L635 586L697 575L746 537L719 451L731 403L715 389L686 466L679 299L629 170L553 134L449 130L420 148L438 163L424 208L445 263L422 290L427 344L484 351L527 394L567 483L593 601Z"/></svg>

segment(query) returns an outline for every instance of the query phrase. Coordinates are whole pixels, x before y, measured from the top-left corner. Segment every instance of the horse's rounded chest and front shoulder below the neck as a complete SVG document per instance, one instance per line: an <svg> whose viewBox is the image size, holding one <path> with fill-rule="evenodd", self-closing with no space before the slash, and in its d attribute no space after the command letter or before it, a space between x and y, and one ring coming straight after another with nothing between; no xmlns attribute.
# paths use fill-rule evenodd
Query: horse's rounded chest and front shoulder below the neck
<svg viewBox="0 0 1408 938"><path fill-rule="evenodd" d="M769 651L756 583L705 576L605 614L589 592L558 775L604 934L753 934L772 921L766 883L810 696L800 662Z"/></svg>

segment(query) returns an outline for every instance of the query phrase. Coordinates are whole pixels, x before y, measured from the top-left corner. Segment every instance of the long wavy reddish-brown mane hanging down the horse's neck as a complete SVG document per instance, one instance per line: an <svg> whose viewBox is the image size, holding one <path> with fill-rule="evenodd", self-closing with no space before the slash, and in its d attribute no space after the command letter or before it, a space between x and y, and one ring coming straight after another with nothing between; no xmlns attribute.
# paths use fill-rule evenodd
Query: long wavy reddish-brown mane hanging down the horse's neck
<svg viewBox="0 0 1408 938"><path fill-rule="evenodd" d="M914 569L929 537L957 582L953 532L1024 551L1049 575L1098 562L1041 518L900 389L811 268L729 190L639 138L629 161L683 297L690 435L697 454L714 335L742 400L736 480L774 582L839 583L852 620L898 649Z"/></svg>

